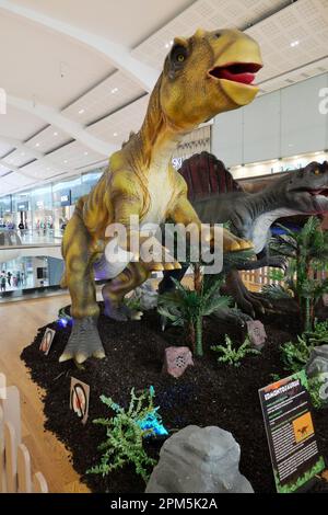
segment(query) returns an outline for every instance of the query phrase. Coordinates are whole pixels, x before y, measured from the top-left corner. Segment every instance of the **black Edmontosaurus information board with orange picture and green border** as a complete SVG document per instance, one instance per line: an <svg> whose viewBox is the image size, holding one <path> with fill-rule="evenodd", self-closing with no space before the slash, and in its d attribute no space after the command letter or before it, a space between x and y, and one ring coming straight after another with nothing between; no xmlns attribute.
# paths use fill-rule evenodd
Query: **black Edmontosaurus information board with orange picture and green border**
<svg viewBox="0 0 328 515"><path fill-rule="evenodd" d="M305 371L259 390L278 493L305 488L326 466L318 451Z"/></svg>

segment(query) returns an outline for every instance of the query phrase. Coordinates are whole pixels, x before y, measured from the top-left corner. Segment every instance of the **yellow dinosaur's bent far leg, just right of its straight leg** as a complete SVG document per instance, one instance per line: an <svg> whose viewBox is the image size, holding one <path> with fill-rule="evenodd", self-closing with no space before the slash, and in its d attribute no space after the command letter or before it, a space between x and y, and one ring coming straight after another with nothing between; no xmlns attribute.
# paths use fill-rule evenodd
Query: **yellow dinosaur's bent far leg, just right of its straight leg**
<svg viewBox="0 0 328 515"><path fill-rule="evenodd" d="M150 272L142 263L129 263L117 277L103 287L105 314L118 321L131 318L131 312L122 300L129 291L144 283L149 276Z"/></svg>

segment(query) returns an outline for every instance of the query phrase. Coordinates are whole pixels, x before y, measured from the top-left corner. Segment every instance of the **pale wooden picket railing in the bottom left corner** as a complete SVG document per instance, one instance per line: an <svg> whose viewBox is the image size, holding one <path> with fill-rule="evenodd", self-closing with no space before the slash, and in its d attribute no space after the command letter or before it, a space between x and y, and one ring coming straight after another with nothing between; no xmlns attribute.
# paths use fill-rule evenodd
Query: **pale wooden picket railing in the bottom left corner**
<svg viewBox="0 0 328 515"><path fill-rule="evenodd" d="M21 402L16 387L3 387L0 399L0 493L47 493L40 472L33 473L22 443Z"/></svg>

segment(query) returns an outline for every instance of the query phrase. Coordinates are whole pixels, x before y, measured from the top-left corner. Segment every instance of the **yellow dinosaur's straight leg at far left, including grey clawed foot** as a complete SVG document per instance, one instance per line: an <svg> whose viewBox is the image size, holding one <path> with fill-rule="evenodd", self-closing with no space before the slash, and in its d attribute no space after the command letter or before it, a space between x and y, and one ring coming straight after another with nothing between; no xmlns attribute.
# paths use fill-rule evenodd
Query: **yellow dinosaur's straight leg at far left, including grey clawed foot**
<svg viewBox="0 0 328 515"><path fill-rule="evenodd" d="M90 356L103 358L105 352L97 330L99 308L95 295L91 238L78 211L66 228L62 250L73 327L59 360L83 363Z"/></svg>

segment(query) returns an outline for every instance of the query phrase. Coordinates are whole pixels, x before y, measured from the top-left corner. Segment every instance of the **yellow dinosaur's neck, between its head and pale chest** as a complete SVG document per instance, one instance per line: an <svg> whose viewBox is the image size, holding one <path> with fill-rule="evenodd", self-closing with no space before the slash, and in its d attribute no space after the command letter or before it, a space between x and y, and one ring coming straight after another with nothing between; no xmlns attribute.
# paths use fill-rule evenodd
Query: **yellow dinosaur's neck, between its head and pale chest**
<svg viewBox="0 0 328 515"><path fill-rule="evenodd" d="M145 118L138 133L138 161L145 175L168 170L178 142L187 134L169 123L160 102L161 77L151 94Z"/></svg>

